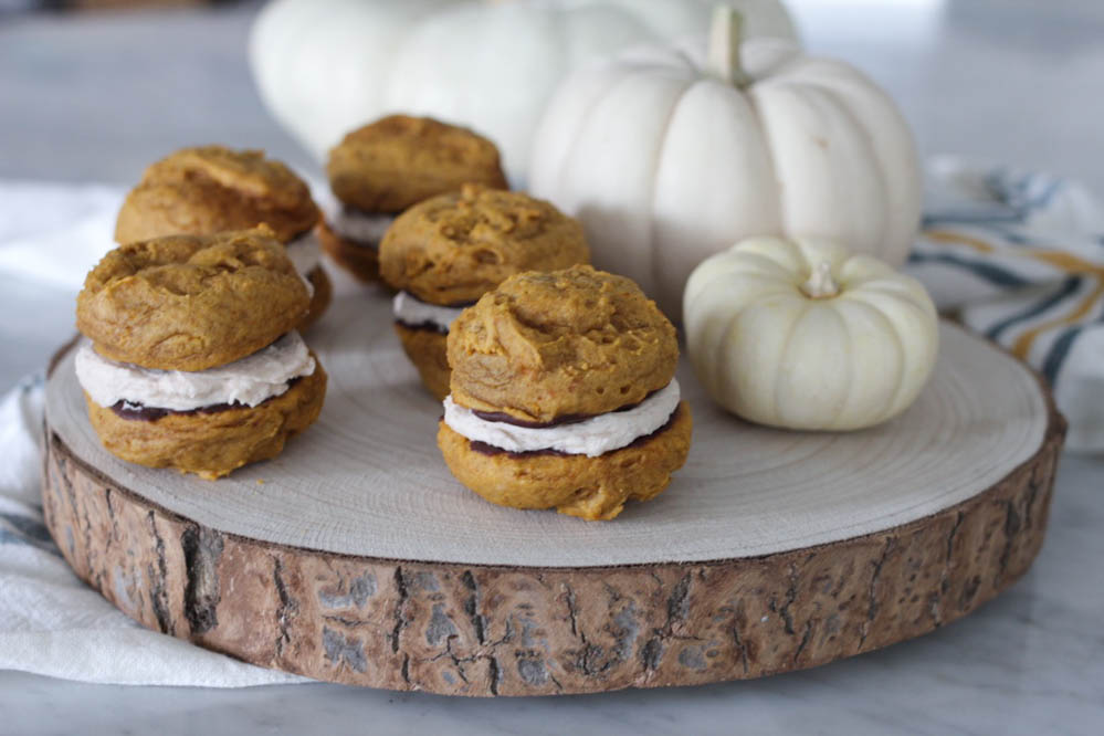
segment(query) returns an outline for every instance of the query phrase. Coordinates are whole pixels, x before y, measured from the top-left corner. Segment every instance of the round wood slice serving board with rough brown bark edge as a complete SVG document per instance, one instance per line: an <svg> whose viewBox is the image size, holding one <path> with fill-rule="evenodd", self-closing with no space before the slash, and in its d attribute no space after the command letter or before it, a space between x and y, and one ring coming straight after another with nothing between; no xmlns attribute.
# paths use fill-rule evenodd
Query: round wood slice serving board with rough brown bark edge
<svg viewBox="0 0 1104 736"><path fill-rule="evenodd" d="M318 423L208 482L116 460L73 350L46 392L43 504L65 558L147 627L320 680L462 695L686 685L916 637L1042 544L1064 422L1021 364L951 325L918 402L850 434L753 427L680 372L686 466L614 522L487 504L435 443L369 292L307 335Z"/></svg>

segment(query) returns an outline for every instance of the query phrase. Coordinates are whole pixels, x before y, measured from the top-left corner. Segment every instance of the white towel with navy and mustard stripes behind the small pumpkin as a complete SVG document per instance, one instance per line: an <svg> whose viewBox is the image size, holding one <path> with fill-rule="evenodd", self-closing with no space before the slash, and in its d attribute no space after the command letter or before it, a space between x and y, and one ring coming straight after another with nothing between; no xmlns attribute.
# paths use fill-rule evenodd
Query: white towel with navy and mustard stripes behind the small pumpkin
<svg viewBox="0 0 1104 736"><path fill-rule="evenodd" d="M1069 449L1104 450L1104 208L1073 181L951 160L928 189L908 273L1050 381Z"/></svg>

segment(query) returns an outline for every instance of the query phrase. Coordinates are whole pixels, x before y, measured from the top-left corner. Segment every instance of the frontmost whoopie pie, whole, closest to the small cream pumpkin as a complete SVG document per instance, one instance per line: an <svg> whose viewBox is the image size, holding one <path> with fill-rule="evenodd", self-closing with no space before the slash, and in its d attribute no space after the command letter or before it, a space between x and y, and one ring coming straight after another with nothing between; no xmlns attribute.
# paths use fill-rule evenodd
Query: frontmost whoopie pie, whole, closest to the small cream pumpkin
<svg viewBox="0 0 1104 736"><path fill-rule="evenodd" d="M492 503L611 519L686 460L675 330L629 278L585 265L511 276L448 343L438 445Z"/></svg>

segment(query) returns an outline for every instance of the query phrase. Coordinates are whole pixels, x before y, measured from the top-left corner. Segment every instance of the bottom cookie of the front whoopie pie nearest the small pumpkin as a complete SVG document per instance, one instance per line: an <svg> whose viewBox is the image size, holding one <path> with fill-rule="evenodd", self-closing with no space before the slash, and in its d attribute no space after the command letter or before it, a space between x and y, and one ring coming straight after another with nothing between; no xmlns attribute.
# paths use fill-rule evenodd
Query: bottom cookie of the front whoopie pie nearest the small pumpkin
<svg viewBox="0 0 1104 736"><path fill-rule="evenodd" d="M597 458L484 454L443 421L437 442L456 480L493 504L609 521L627 501L649 501L667 487L671 474L686 462L692 429L690 407L682 401L665 429Z"/></svg>

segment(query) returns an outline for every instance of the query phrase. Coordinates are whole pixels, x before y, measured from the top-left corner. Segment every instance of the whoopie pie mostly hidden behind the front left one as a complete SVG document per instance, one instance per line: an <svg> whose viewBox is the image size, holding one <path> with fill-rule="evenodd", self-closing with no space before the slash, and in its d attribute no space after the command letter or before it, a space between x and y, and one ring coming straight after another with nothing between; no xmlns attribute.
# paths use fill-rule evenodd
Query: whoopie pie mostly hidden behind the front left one
<svg viewBox="0 0 1104 736"><path fill-rule="evenodd" d="M309 284L303 328L322 316L333 296L315 232L320 220L309 188L284 164L260 150L200 146L182 148L146 169L123 202L115 241L210 235L264 223Z"/></svg>

